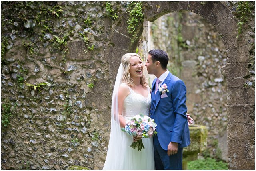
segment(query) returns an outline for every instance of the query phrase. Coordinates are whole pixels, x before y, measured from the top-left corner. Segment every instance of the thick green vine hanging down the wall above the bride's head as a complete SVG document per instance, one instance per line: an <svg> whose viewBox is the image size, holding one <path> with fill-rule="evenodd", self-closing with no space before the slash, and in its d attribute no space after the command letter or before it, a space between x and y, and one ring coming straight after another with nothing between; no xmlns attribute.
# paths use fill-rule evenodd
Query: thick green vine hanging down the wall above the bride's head
<svg viewBox="0 0 256 171"><path fill-rule="evenodd" d="M135 41L136 38L136 27L138 26L139 22L143 22L144 20L144 13L142 12L142 2L130 2L128 4L129 18L127 21L127 30L130 35L132 35L132 42Z"/></svg>

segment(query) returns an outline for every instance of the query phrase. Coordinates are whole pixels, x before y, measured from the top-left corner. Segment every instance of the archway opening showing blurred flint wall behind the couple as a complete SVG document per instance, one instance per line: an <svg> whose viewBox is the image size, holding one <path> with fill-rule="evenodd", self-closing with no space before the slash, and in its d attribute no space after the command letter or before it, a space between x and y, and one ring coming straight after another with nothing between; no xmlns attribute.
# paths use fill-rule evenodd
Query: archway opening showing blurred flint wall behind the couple
<svg viewBox="0 0 256 171"><path fill-rule="evenodd" d="M226 79L220 71L227 58L218 31L193 12L165 14L146 25L142 35L148 39L140 42L168 53L169 71L187 87L188 113L208 130L204 152L227 161ZM149 75L150 86L154 78Z"/></svg>

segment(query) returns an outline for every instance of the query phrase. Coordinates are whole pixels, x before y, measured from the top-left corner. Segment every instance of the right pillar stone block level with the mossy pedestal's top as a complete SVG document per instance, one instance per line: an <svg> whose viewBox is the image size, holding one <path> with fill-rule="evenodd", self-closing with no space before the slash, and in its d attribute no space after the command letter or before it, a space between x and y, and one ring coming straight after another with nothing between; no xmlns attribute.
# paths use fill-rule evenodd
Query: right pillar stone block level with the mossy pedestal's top
<svg viewBox="0 0 256 171"><path fill-rule="evenodd" d="M254 124L247 123L228 123L227 131L229 140L251 140L254 139Z"/></svg>

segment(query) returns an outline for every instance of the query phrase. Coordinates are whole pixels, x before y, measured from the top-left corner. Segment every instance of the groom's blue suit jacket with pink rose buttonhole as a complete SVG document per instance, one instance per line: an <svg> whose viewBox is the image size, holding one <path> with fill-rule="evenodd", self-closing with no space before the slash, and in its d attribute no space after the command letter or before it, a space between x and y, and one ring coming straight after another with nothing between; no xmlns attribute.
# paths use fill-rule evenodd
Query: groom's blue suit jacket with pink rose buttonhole
<svg viewBox="0 0 256 171"><path fill-rule="evenodd" d="M161 92L155 93L156 79L152 83L152 94L156 104L151 103L150 116L157 124L156 131L162 149L167 150L170 142L178 143L178 147L190 144L190 135L187 122L186 86L184 82L169 72L162 83L167 85L168 97L161 98ZM152 101L153 102L153 101Z"/></svg>

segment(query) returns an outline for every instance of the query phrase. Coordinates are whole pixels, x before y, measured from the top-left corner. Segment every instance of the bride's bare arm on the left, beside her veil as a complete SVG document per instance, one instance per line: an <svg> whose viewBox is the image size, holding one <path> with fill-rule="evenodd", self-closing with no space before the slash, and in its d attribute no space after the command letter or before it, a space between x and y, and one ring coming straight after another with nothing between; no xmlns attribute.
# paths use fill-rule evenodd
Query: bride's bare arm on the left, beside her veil
<svg viewBox="0 0 256 171"><path fill-rule="evenodd" d="M128 94L130 94L128 85L126 84L121 84L119 86L119 90L118 90L118 116L119 116L119 124L120 127L125 127L126 122L125 119L122 116L122 112L123 112L123 106L124 106L124 99L126 98L126 96L128 96Z"/></svg>

